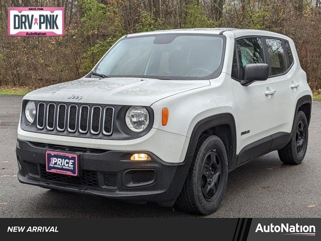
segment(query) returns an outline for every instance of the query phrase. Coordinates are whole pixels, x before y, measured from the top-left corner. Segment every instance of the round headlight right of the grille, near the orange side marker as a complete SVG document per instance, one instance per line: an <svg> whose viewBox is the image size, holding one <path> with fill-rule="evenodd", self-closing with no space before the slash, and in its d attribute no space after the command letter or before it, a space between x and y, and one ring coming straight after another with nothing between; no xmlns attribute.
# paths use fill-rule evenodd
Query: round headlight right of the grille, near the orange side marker
<svg viewBox="0 0 321 241"><path fill-rule="evenodd" d="M133 132L142 132L149 123L149 114L145 107L131 106L125 116L127 127Z"/></svg>

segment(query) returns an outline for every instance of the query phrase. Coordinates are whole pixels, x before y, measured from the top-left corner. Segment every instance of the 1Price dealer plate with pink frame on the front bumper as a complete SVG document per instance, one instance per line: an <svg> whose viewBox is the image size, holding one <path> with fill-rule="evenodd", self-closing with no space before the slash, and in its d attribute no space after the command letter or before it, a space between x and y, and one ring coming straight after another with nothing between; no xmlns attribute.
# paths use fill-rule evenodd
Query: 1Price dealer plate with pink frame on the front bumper
<svg viewBox="0 0 321 241"><path fill-rule="evenodd" d="M78 176L78 155L46 151L46 172Z"/></svg>

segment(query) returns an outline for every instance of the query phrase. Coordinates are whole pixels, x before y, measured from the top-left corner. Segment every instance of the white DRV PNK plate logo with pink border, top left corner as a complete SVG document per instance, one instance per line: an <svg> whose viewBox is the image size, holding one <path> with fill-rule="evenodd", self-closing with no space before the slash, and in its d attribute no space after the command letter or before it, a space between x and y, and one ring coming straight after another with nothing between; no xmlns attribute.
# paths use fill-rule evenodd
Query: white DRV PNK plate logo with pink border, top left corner
<svg viewBox="0 0 321 241"><path fill-rule="evenodd" d="M64 36L64 8L8 8L9 36Z"/></svg>

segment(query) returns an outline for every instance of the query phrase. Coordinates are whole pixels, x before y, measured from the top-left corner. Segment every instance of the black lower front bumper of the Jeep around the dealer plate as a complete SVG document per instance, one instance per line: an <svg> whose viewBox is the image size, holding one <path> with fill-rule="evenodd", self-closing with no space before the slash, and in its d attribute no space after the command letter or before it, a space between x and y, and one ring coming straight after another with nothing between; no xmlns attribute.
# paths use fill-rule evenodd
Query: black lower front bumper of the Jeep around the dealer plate
<svg viewBox="0 0 321 241"><path fill-rule="evenodd" d="M48 150L78 154L79 176L47 173ZM21 183L167 206L174 204L188 170L184 163L166 163L149 152L144 153L151 157L150 161L130 161L131 151L75 148L19 139L16 153Z"/></svg>

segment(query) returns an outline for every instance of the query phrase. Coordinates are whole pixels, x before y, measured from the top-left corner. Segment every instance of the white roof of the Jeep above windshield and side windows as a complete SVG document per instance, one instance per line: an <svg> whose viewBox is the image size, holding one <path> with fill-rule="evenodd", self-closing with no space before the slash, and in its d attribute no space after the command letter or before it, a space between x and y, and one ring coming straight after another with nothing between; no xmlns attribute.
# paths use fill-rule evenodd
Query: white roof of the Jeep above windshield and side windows
<svg viewBox="0 0 321 241"><path fill-rule="evenodd" d="M148 34L164 34L164 33L202 33L202 34L233 34L235 38L244 36L267 36L288 39L285 35L264 31L264 30L254 30L254 29L234 29L234 28L199 28L199 29L171 29L171 30L157 30L153 32L144 32L129 34L128 36L143 36Z"/></svg>

